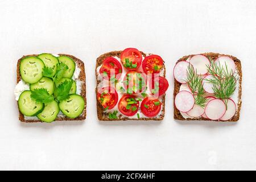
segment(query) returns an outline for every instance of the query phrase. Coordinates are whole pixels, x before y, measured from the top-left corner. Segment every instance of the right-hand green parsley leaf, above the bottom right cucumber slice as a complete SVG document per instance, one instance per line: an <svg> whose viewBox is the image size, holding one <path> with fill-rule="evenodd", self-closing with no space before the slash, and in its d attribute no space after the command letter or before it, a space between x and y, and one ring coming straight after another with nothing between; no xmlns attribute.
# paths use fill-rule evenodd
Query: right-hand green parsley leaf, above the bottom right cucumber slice
<svg viewBox="0 0 256 182"><path fill-rule="evenodd" d="M67 100L69 98L69 90L71 89L73 82L64 81L55 90L55 96L58 101Z"/></svg>

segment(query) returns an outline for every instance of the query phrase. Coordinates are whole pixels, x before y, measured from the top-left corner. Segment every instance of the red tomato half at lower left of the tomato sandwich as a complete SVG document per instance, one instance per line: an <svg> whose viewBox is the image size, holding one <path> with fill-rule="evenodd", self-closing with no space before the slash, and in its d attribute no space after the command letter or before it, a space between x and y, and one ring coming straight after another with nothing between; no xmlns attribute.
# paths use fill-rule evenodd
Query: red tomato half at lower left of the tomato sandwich
<svg viewBox="0 0 256 182"><path fill-rule="evenodd" d="M111 86L98 89L97 98L105 109L113 109L118 102L118 94Z"/></svg>

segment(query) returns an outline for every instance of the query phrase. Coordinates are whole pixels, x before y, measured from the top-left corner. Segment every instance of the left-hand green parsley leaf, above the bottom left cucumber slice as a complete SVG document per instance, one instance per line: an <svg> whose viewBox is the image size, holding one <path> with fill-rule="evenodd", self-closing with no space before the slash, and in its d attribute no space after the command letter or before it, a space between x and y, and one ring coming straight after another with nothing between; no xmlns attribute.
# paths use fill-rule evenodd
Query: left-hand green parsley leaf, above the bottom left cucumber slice
<svg viewBox="0 0 256 182"><path fill-rule="evenodd" d="M50 96L50 94L44 88L31 91L30 97L32 98L32 100L35 100L36 102L42 102L44 104L54 100L54 97Z"/></svg>

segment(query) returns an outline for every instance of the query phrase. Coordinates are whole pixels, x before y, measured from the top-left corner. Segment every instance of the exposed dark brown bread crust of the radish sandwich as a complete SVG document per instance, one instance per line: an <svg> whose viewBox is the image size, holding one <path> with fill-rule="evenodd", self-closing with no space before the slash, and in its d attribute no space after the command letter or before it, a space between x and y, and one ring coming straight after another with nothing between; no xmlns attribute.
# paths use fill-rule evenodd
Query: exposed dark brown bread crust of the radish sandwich
<svg viewBox="0 0 256 182"><path fill-rule="evenodd" d="M224 55L224 54L220 54L220 53L209 52L209 53L201 53L201 55L204 55L204 56L207 56L207 57L210 56L212 58L212 60L216 60L218 56L228 56L228 57L230 57L231 59L234 60L234 63L236 64L236 67L237 67L238 75L240 76L240 80L239 80L239 83L238 83L238 104L237 104L238 108L237 108L236 114L233 116L233 118L229 119L227 122L236 122L236 121L238 121L239 118L240 118L240 110L241 110L241 104L242 104L242 100L241 100L241 96L242 96L242 66L241 66L241 61L239 59L237 59L237 57L230 56L230 55ZM179 61L187 60L189 56L193 56L193 55L188 55L188 56L181 57L181 59L179 59L176 62L176 64ZM179 93L180 85L181 84L174 79L174 101L175 101L175 96L177 95L177 93ZM185 119L180 114L180 111L177 110L175 104L174 104L174 119L183 120L183 121L197 121L197 120L212 121L210 119L203 118L203 117ZM220 120L217 120L217 121L225 122L225 121L220 121Z"/></svg>

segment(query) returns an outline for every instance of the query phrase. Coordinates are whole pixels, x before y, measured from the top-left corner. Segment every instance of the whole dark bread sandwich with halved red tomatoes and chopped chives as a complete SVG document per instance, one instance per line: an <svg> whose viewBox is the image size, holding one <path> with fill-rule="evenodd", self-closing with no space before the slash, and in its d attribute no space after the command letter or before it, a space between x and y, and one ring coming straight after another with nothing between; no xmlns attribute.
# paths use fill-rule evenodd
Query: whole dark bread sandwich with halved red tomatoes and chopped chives
<svg viewBox="0 0 256 182"><path fill-rule="evenodd" d="M162 57L136 48L105 53L96 63L96 100L100 121L164 118L168 81Z"/></svg>

